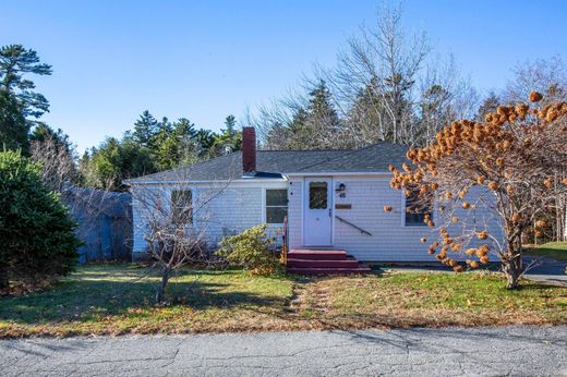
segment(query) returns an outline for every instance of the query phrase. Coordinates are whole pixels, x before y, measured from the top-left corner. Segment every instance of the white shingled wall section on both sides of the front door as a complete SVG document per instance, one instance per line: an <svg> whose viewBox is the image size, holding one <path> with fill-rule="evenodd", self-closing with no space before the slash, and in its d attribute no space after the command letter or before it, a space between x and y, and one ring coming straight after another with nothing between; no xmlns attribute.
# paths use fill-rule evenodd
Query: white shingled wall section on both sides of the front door
<svg viewBox="0 0 567 377"><path fill-rule="evenodd" d="M290 247L302 247L302 224L301 214L303 195L301 177L291 177L290 182L293 195L290 196L289 219L290 219ZM333 240L334 248L346 250L360 260L367 262L433 262L431 255L426 253L429 244L420 242L421 238L430 240L437 239L438 233L427 227L406 227L405 226L405 197L403 193L389 186L389 177L334 177L334 190L340 183L346 185L345 197L339 193L333 193L334 216L333 216ZM290 187L291 187L290 186ZM297 195L295 195L297 194ZM470 193L470 200L474 203L474 193ZM350 204L351 209L336 209L337 204ZM385 212L384 206L394 207L391 212ZM480 206L479 206L480 208ZM491 232L494 235L500 233L500 228L495 219L491 219L487 211L476 209L478 223L490 222ZM463 218L467 216L465 210L458 210L456 216ZM339 221L336 216L364 229L372 235L363 234L353 227ZM480 216L480 218L479 218ZM437 214L434 214L434 220ZM462 232L457 226L448 229L454 234Z"/></svg>

